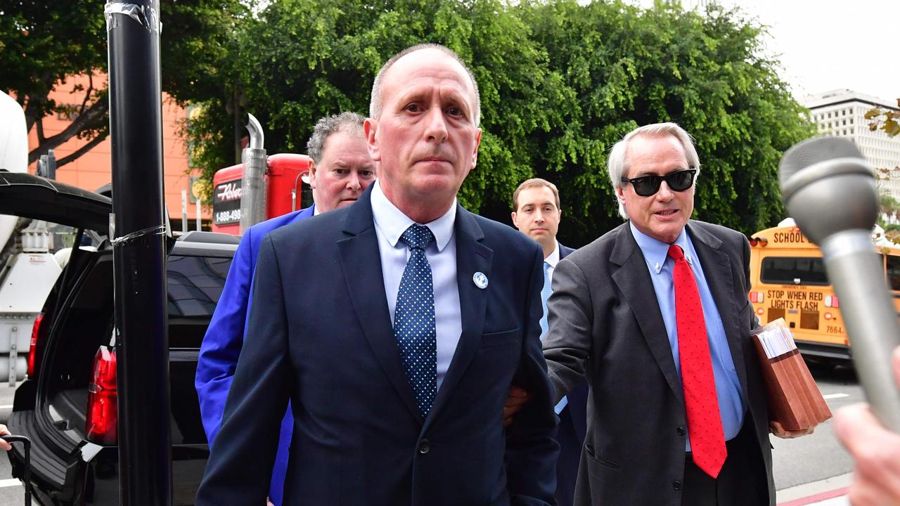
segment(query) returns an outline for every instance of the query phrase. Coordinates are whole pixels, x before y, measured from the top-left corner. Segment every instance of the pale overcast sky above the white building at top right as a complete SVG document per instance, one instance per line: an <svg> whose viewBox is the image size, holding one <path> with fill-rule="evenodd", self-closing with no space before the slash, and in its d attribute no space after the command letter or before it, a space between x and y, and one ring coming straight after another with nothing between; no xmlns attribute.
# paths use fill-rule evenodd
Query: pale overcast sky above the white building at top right
<svg viewBox="0 0 900 506"><path fill-rule="evenodd" d="M900 0L721 0L770 27L794 95L850 88L900 97ZM890 27L894 30L891 32Z"/></svg>

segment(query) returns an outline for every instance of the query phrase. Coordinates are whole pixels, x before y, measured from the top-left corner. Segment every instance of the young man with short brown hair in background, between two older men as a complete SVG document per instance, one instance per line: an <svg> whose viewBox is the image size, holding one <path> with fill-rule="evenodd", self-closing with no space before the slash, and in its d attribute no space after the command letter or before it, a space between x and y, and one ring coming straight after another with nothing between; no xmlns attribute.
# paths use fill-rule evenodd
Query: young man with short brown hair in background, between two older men
<svg viewBox="0 0 900 506"><path fill-rule="evenodd" d="M550 282L556 264L574 251L556 240L563 211L560 208L560 193L553 183L534 177L518 185L512 194L512 222L516 228L535 239L544 250L544 289L541 302L544 316L541 318L541 339L547 332L547 298L552 293ZM514 395L527 398L525 391L516 388ZM587 430L588 384L582 382L563 398L554 408L560 417L556 440L560 444L560 456L556 461L556 503L572 506L575 493L575 478L581 462L581 446Z"/></svg>

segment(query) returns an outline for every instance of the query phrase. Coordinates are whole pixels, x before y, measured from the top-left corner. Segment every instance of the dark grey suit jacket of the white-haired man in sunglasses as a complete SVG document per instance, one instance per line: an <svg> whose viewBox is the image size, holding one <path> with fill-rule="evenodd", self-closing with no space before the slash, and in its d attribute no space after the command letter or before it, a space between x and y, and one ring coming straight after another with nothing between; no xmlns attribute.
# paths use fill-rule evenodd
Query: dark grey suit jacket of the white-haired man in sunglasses
<svg viewBox="0 0 900 506"><path fill-rule="evenodd" d="M750 248L743 234L687 227L722 317L761 462L771 473L769 415L750 331ZM680 377L644 255L625 223L561 260L544 354L557 397L588 379L588 434L576 504L679 505L687 420ZM761 465L762 467L762 465Z"/></svg>

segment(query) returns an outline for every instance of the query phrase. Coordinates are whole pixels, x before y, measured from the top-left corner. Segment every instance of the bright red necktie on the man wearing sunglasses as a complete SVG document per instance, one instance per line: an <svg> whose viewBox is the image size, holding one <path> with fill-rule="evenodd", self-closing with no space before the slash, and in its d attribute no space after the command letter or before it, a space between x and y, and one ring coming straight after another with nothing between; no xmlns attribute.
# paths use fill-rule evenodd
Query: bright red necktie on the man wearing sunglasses
<svg viewBox="0 0 900 506"><path fill-rule="evenodd" d="M676 245L669 247L675 260L672 280L675 282L675 321L678 329L678 351L681 362L681 387L688 415L688 436L694 463L713 478L719 475L728 450L716 397L716 378L709 358L707 323L694 273L684 252Z"/></svg>

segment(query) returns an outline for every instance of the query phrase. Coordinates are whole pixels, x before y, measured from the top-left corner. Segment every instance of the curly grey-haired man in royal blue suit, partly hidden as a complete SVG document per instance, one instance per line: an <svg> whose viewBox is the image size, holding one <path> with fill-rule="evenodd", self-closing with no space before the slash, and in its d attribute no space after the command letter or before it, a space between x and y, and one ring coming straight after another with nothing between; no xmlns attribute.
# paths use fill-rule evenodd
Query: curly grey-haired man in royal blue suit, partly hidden
<svg viewBox="0 0 900 506"><path fill-rule="evenodd" d="M365 147L364 120L356 113L340 113L317 122L307 143L311 158L310 185L315 203L301 211L257 223L240 240L197 363L195 386L200 398L203 429L210 447L219 432L225 400L235 366L238 365L238 355L243 348L250 284L259 245L272 230L356 202L365 188L372 184L375 164ZM256 343L250 346L256 346ZM291 411L287 411L282 420L281 441L269 492L269 498L275 505L282 502L292 430L293 416Z"/></svg>

